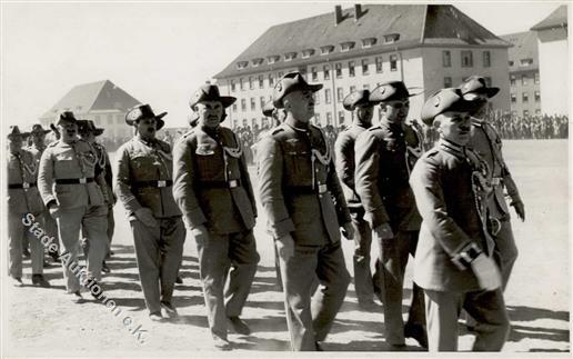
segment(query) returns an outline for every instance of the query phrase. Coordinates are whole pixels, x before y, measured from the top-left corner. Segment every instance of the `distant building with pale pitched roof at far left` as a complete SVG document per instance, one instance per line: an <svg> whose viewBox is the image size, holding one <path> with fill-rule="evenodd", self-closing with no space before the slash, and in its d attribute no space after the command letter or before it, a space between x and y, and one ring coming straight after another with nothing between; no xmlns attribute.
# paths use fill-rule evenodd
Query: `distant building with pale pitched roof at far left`
<svg viewBox="0 0 573 359"><path fill-rule="evenodd" d="M61 111L73 111L78 119L93 120L105 128L103 137L124 138L131 136L125 123L128 110L140 102L110 80L78 84L73 87L41 118L49 126Z"/></svg>

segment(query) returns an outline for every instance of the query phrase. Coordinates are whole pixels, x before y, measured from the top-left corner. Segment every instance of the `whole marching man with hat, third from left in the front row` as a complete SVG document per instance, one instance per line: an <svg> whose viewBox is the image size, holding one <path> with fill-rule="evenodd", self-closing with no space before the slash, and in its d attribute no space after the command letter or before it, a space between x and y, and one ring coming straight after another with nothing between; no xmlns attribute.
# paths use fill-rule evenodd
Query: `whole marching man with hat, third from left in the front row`
<svg viewBox="0 0 573 359"><path fill-rule="evenodd" d="M173 288L185 241L172 192L171 148L155 138L165 114L155 114L149 104L125 113L125 122L135 128L135 136L118 149L113 186L131 226L141 288L153 321L178 316Z"/></svg>

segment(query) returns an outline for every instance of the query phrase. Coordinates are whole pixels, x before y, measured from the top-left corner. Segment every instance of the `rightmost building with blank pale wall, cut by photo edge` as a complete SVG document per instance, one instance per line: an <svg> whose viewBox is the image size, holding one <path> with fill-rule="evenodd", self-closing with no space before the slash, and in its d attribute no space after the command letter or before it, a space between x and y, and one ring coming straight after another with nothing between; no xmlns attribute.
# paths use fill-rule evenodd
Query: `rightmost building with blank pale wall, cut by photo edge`
<svg viewBox="0 0 573 359"><path fill-rule="evenodd" d="M567 114L569 92L567 6L561 6L531 30L537 33L540 49L541 110Z"/></svg>

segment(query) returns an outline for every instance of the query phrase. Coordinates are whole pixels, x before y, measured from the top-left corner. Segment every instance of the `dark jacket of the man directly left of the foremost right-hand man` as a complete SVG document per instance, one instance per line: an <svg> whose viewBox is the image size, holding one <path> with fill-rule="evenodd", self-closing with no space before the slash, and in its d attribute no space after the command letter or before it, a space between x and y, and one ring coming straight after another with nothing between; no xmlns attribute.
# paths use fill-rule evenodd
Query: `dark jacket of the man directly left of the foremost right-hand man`
<svg viewBox="0 0 573 359"><path fill-rule="evenodd" d="M420 229L409 185L410 170L422 152L416 133L411 126L382 120L356 139L355 186L371 228L389 222L394 232Z"/></svg>

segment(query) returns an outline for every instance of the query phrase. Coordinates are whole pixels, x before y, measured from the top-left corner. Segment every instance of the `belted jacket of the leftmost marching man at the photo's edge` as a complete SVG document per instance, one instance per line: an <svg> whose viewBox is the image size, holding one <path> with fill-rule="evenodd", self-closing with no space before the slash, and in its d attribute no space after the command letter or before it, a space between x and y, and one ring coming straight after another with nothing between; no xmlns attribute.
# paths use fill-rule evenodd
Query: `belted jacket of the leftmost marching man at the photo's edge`
<svg viewBox="0 0 573 359"><path fill-rule="evenodd" d="M8 152L8 210L13 213L39 213L46 208L37 186L38 163L32 152ZM16 185L20 188L10 188Z"/></svg>

